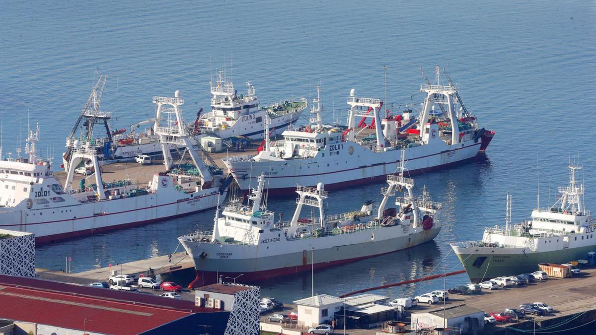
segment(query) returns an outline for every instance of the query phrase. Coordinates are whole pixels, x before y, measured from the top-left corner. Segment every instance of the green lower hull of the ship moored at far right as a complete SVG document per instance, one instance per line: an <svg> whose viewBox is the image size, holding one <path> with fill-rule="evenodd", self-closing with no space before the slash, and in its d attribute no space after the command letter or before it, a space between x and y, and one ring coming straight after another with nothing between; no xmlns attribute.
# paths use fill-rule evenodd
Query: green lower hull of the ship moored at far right
<svg viewBox="0 0 596 335"><path fill-rule="evenodd" d="M465 271L473 283L499 276L519 275L538 271L538 263L567 263L570 260L585 259L595 247L582 246L569 249L532 252L529 248L470 247L473 253L463 252L452 246ZM465 248L468 249L468 248ZM478 250L476 252L475 250Z"/></svg>

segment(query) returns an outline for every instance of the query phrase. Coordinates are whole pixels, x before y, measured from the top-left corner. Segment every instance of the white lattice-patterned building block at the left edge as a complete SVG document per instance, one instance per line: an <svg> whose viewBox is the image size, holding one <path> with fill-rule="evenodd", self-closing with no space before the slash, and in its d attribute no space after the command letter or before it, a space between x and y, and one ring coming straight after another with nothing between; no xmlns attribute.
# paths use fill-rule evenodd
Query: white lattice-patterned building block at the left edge
<svg viewBox="0 0 596 335"><path fill-rule="evenodd" d="M35 235L0 229L0 274L35 277Z"/></svg>

